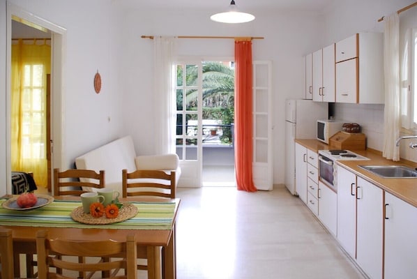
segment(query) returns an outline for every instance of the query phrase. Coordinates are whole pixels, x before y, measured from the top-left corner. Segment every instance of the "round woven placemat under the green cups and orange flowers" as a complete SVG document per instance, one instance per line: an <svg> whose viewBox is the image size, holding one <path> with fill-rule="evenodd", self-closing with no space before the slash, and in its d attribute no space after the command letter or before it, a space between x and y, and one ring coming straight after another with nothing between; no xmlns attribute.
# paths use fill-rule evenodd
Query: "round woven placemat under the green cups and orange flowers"
<svg viewBox="0 0 417 279"><path fill-rule="evenodd" d="M119 223L124 220L128 220L132 217L135 217L137 214L137 207L133 204L123 204L121 209L119 209L119 216L116 218L106 218L104 215L103 217L93 217L89 213L84 213L84 209L82 206L77 207L71 212L71 218L73 220L88 225L108 225L113 223Z"/></svg>

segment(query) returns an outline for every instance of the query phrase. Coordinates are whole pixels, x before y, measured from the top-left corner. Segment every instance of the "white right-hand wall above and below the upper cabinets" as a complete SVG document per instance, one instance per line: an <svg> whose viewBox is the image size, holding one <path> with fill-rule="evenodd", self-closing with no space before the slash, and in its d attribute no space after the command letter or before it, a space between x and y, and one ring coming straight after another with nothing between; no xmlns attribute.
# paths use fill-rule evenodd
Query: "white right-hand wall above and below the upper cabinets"
<svg viewBox="0 0 417 279"><path fill-rule="evenodd" d="M335 1L326 10L324 43L328 45L358 32L383 32L384 22L377 20L395 13L414 3L414 0L351 0ZM400 25L411 24L417 18L417 8L400 14ZM416 20L414 20L416 23ZM417 27L417 24L414 25ZM361 124L367 136L367 146L382 151L384 133L384 105L336 104L335 116L338 119ZM407 152L400 153L403 158L412 158Z"/></svg>

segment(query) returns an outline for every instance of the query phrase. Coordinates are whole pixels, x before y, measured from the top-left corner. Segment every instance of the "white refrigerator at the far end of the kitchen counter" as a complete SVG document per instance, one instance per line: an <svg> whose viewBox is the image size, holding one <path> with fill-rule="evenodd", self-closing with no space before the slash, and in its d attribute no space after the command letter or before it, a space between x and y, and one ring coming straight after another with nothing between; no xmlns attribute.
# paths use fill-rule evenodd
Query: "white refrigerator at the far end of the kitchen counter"
<svg viewBox="0 0 417 279"><path fill-rule="evenodd" d="M328 119L328 103L286 100L285 103L285 186L296 195L296 139L315 139L317 119Z"/></svg>

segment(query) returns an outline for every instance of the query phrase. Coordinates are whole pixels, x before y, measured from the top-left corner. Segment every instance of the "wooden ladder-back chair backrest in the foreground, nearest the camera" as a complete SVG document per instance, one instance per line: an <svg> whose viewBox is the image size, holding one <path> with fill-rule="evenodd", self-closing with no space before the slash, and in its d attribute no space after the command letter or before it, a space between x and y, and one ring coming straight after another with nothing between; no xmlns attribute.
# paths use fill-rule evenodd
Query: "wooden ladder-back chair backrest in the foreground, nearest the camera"
<svg viewBox="0 0 417 279"><path fill-rule="evenodd" d="M129 234L126 241L123 242L112 240L74 241L49 239L47 230L40 230L36 233L36 250L39 278L55 278L56 273L50 267L59 269L59 273L63 274L58 278L77 278L79 271L89 273L101 271L109 274L108 278L137 278L135 234ZM71 260L71 257L64 256L85 257L86 260L84 263L79 263L77 260ZM98 258L106 258L109 261ZM125 276L114 274L121 269L124 269ZM75 277L67 276L71 272Z"/></svg>

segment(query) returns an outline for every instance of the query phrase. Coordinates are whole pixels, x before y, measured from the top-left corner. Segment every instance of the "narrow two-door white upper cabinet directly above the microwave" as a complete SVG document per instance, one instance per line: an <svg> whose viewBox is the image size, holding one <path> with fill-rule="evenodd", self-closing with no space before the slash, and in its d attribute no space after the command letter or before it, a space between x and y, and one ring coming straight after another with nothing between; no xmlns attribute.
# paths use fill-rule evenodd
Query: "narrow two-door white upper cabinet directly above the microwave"
<svg viewBox="0 0 417 279"><path fill-rule="evenodd" d="M312 54L312 95L316 102L335 102L335 44Z"/></svg>

